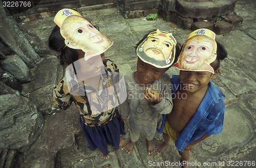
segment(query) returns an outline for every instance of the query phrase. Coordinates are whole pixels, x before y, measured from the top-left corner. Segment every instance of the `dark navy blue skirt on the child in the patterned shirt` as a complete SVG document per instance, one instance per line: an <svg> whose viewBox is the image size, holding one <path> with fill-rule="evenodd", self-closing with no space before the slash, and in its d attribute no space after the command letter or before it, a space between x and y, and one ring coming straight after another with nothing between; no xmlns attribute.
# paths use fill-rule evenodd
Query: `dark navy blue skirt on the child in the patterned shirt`
<svg viewBox="0 0 256 168"><path fill-rule="evenodd" d="M86 137L88 148L94 151L96 148L103 153L104 156L108 155L107 145L112 145L116 150L119 149L120 135L124 135L124 122L121 121L119 113L106 124L90 127L80 120L83 135Z"/></svg>

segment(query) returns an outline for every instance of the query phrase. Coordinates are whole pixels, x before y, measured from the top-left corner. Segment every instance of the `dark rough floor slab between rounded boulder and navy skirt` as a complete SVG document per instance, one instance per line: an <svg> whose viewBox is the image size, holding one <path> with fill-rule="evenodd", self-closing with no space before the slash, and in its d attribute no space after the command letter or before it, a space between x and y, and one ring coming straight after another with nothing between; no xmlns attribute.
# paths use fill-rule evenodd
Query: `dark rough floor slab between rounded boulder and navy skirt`
<svg viewBox="0 0 256 168"><path fill-rule="evenodd" d="M56 156L57 151L76 148L74 134L81 129L78 117L79 111L75 105L71 105L69 109L61 111L61 113L44 116L46 124L42 128L43 131L36 143L24 153L24 159L32 162L32 164L38 162L38 165L41 165L44 162L42 158L48 158L49 160L45 161L46 166L44 167L54 167L52 165L47 166L47 164L48 162L54 163L54 156Z"/></svg>

